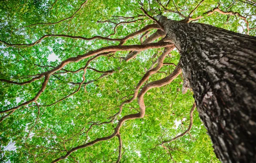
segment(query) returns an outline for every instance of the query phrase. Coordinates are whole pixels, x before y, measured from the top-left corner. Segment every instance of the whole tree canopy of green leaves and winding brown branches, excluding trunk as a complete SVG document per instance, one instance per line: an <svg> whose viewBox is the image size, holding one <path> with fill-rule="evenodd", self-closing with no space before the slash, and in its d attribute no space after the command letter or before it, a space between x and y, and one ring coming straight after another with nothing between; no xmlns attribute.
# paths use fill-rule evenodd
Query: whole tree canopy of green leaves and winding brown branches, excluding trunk
<svg viewBox="0 0 256 163"><path fill-rule="evenodd" d="M160 13L256 36L253 0L2 1L1 162L219 162Z"/></svg>

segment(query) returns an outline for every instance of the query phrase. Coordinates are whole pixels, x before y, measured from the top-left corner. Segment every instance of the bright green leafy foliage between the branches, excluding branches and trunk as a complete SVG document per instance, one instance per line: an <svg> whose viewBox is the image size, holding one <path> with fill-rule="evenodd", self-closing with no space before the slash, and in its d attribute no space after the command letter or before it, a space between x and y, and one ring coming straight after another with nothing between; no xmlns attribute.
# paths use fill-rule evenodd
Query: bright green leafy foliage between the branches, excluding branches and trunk
<svg viewBox="0 0 256 163"><path fill-rule="evenodd" d="M168 0L162 0L161 3L165 6L167 2ZM188 0L174 0L177 9L183 15L189 15L199 2L200 0L194 0L193 3ZM147 24L152 24L152 20L137 16L143 15L143 13L139 9L139 3L135 0L88 0L73 18L57 24L40 24L54 23L69 18L82 3L84 3L82 0L2 1L0 3L0 40L12 44L30 44L47 34L64 34L87 38L92 36L107 37L114 32L115 24L110 22L97 23L97 21L110 19L115 19L112 20L115 23L127 21L118 20L113 16L135 17L134 20L142 20L120 25L117 27L117 33L110 38L123 38ZM176 10L174 3L170 2L166 8ZM149 9L148 1L144 0L143 5L145 9ZM204 14L218 5L224 11L232 10L241 15L255 15L256 13L256 7L240 1L233 3L233 0L205 0L191 16L196 18L202 15L203 18L198 20L200 23L245 33L241 30L241 26L246 31L246 24L240 18L230 16L229 21L227 21L227 15L214 13L207 16ZM157 1L150 0L150 9L149 14L155 15L163 8ZM165 12L164 15L174 20L183 19L172 12ZM248 16L247 19L250 28L255 27L255 16ZM255 36L256 30L250 30L249 34ZM128 40L125 45L140 44L140 36ZM118 43L101 39L85 41L64 37L48 37L43 39L41 43L27 48L6 47L2 44L0 46L0 78L24 82L32 78L27 75L46 72L67 58L76 57L98 48L118 45ZM78 85L71 85L70 82L82 82L82 72L52 75L46 90L37 100L37 103L42 106L40 107L39 118L37 118L37 105L30 103L16 110L0 124L0 161L13 163L51 162L64 156L66 150L69 151L85 142L111 135L117 121L93 126L88 133L85 131L90 127L91 122L109 121L109 117L119 111L120 104L134 94L134 88L145 74L145 69L149 69L152 62L157 59L157 57L152 58L152 55L157 53L159 56L162 51L162 48L142 51L135 59L121 63L119 57L125 57L128 51L116 52L115 58L110 56L98 57L90 63L89 67L100 71L114 69L115 73L97 80L101 74L87 69L85 82L96 80L95 82L82 87L76 94L55 105L45 106L76 91ZM49 58L52 56L57 56L59 60L50 61ZM85 66L89 59L69 63L64 69L75 71ZM172 51L164 62L177 64L179 62L178 51ZM162 73L152 75L147 83L166 77L171 74L174 68L174 66L163 66L159 70ZM10 109L34 98L42 83L43 78L22 86L1 82L0 110ZM123 142L122 151L124 152L122 163L165 163L172 161L168 152L162 146L156 145L183 133L189 126L189 111L194 100L192 92L183 95L179 91L181 87L182 79L179 76L171 84L161 88L153 88L146 93L144 97L145 117L126 121L120 130ZM124 106L118 119L125 115L137 113L138 110L137 100L134 100ZM186 120L182 124L177 123L184 117ZM189 134L166 144L173 159L183 163L218 162L198 112L194 112L193 118L193 127ZM36 121L37 124L34 126ZM30 129L31 132L28 136ZM11 150L8 145L13 145L15 149ZM118 146L118 138L114 137L108 141L98 142L93 146L73 152L62 162L74 162L75 160L81 163L115 162L118 158Z"/></svg>

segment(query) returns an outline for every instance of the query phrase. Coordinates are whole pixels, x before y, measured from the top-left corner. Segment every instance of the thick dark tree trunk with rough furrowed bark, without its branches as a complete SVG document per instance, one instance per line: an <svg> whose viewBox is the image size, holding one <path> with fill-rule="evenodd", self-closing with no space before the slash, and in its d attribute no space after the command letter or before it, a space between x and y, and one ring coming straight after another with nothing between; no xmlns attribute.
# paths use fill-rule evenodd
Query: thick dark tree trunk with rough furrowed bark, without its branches
<svg viewBox="0 0 256 163"><path fill-rule="evenodd" d="M256 163L256 37L160 18L223 163Z"/></svg>

